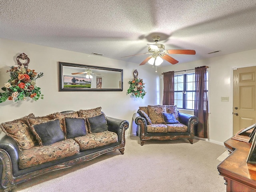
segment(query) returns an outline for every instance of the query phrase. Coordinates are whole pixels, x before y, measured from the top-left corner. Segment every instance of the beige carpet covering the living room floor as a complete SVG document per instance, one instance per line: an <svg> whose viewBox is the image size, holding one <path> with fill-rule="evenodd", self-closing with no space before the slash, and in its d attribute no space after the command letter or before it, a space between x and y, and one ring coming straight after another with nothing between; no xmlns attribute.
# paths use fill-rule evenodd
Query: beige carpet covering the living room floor
<svg viewBox="0 0 256 192"><path fill-rule="evenodd" d="M126 139L124 155L110 152L82 165L22 183L17 192L224 192L217 158L224 146L203 140Z"/></svg>

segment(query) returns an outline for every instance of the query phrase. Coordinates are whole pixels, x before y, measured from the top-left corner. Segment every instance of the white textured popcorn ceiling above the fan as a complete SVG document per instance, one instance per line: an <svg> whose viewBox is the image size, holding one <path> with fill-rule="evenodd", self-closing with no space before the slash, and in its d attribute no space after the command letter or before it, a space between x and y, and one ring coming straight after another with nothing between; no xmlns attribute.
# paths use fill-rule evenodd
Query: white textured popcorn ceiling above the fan
<svg viewBox="0 0 256 192"><path fill-rule="evenodd" d="M255 0L1 0L0 8L0 38L137 64L148 55L121 57L148 52L156 35L165 49L196 50L170 55L178 64L256 49Z"/></svg>

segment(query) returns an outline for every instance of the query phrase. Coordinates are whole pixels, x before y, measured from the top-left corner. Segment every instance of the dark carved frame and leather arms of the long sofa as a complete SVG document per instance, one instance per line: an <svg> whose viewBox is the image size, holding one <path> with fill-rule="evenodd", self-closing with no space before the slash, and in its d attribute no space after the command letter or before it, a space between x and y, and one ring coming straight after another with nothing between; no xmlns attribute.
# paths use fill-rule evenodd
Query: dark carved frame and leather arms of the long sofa
<svg viewBox="0 0 256 192"><path fill-rule="evenodd" d="M13 172L13 166L18 168L18 153L19 147L17 142L10 136L6 135L2 130L0 130L0 182L1 187L5 192L10 192L12 189L16 188L17 184L30 180L36 176L42 174L59 170L63 168L68 168L77 164L81 164L88 160L92 160L102 154L119 150L121 154L124 154L125 146L125 130L129 127L129 122L126 120L120 120L112 117L106 116L109 131L116 132L118 134L118 142L109 144L106 146L93 148L85 151L81 151L79 154L68 157L67 159L55 160L54 162L49 162L54 164L49 166L46 163L45 166L41 164L38 169L27 168L23 174L15 176Z"/></svg>

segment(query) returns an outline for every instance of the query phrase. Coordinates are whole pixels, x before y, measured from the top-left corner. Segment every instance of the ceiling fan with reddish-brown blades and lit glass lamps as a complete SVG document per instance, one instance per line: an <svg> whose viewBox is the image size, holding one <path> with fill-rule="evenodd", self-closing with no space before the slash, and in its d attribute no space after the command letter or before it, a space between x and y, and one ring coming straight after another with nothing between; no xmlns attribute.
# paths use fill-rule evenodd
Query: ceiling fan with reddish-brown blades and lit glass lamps
<svg viewBox="0 0 256 192"><path fill-rule="evenodd" d="M152 54L148 56L144 61L140 63L140 65L146 64L148 62L149 64L154 66L158 66L162 64L164 60L168 61L171 64L176 64L178 61L168 54L187 54L187 55L194 55L196 54L195 50L183 50L183 49L170 49L165 50L163 44L158 44L158 41L160 39L160 36L154 36L153 40L156 42L156 44L147 44L148 45L148 53L140 53L135 55L129 55L124 57L130 57L130 56L136 56L136 55L142 55L142 54ZM122 58L124 58L122 57ZM164 60L163 60L164 59Z"/></svg>

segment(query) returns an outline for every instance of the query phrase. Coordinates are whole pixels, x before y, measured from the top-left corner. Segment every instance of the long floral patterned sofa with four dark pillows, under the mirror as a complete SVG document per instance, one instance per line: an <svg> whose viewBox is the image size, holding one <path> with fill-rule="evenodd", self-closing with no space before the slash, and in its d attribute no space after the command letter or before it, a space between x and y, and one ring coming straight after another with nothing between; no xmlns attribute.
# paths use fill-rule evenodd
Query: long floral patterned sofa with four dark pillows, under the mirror
<svg viewBox="0 0 256 192"><path fill-rule="evenodd" d="M124 154L129 122L105 116L101 107L29 114L0 124L0 182L5 191L41 174L68 168L101 154Z"/></svg>

